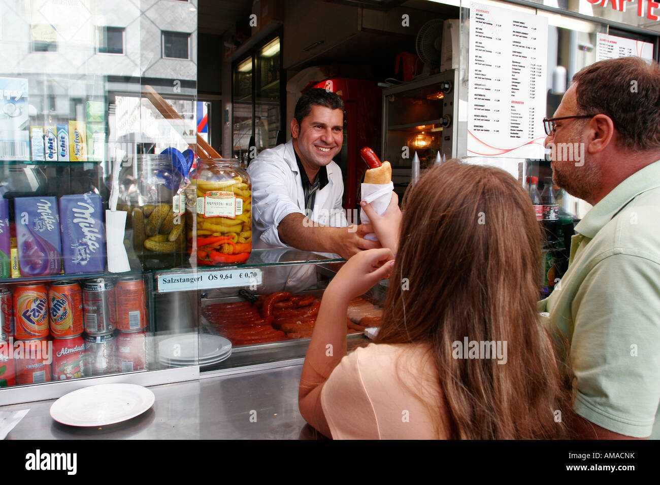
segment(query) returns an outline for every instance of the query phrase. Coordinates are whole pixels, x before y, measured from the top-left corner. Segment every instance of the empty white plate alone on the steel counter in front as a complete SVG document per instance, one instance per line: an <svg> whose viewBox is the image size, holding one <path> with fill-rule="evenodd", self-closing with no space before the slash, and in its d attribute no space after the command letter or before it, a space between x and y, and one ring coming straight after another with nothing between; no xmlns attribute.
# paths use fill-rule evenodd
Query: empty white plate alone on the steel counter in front
<svg viewBox="0 0 660 485"><path fill-rule="evenodd" d="M139 416L156 397L135 384L100 384L63 395L50 406L50 416L69 426L106 426Z"/></svg>

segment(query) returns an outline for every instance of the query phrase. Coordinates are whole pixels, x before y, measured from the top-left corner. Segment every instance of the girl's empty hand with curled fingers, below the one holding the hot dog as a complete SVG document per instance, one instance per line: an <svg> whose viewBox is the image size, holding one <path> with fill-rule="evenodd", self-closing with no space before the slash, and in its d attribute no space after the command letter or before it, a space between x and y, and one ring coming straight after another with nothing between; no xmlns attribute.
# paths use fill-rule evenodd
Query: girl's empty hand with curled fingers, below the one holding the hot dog
<svg viewBox="0 0 660 485"><path fill-rule="evenodd" d="M348 303L356 296L360 296L383 278L389 278L394 267L392 251L383 247L370 249L350 258L335 275L325 290L325 295L337 302Z"/></svg>

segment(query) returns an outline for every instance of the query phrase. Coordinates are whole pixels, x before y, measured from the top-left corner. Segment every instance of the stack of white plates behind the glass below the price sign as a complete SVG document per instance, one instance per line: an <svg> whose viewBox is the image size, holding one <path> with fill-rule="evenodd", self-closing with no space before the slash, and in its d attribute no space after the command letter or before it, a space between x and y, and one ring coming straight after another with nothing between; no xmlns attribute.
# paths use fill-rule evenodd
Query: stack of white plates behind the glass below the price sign
<svg viewBox="0 0 660 485"><path fill-rule="evenodd" d="M166 366L211 366L229 358L232 342L219 335L187 333L158 344L160 363Z"/></svg>

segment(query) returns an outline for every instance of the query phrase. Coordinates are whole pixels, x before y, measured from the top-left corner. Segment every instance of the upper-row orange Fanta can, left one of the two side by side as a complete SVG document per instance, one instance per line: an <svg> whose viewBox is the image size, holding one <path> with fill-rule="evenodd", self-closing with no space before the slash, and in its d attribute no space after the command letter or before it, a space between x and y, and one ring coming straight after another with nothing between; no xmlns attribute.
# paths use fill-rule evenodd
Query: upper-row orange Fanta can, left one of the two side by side
<svg viewBox="0 0 660 485"><path fill-rule="evenodd" d="M39 283L21 284L14 291L15 337L18 340L48 337L48 291Z"/></svg>

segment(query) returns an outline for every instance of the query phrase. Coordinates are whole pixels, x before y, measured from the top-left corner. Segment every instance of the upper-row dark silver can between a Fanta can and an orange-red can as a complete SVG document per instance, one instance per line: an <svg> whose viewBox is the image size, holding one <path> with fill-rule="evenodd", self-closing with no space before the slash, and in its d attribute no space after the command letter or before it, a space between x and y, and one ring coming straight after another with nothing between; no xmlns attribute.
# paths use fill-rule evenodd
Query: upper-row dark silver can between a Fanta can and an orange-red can
<svg viewBox="0 0 660 485"><path fill-rule="evenodd" d="M82 306L84 331L89 335L106 334L116 328L115 285L108 278L86 280Z"/></svg>

